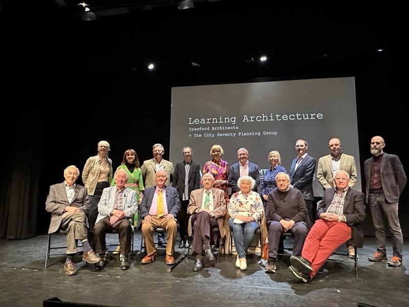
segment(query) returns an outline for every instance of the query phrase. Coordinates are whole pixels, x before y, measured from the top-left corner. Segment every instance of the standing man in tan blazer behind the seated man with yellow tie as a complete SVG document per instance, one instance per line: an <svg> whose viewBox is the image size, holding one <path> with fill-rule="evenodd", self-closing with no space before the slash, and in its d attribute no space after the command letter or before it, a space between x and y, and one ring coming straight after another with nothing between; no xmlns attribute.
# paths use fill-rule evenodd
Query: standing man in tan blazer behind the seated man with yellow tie
<svg viewBox="0 0 409 307"><path fill-rule="evenodd" d="M142 178L144 180L145 188L156 185L156 172L164 170L167 175L166 185L170 186L173 182L173 163L163 159L165 148L162 144L156 143L152 146L153 158L145 160L141 166ZM157 242L160 246L166 247L165 236L162 233L157 234Z"/></svg>

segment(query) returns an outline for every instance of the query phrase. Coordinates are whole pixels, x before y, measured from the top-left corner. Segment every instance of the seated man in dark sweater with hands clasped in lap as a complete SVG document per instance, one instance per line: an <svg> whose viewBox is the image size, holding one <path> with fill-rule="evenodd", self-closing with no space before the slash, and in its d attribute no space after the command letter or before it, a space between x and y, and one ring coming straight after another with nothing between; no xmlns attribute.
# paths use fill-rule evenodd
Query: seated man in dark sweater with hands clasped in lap
<svg viewBox="0 0 409 307"><path fill-rule="evenodd" d="M276 273L278 245L283 232L290 232L294 236L292 250L294 256L301 256L308 233L305 222L308 211L303 194L290 186L290 177L284 172L277 174L276 182L277 188L268 194L267 200L267 212L271 222L268 226L269 251L266 273Z"/></svg>

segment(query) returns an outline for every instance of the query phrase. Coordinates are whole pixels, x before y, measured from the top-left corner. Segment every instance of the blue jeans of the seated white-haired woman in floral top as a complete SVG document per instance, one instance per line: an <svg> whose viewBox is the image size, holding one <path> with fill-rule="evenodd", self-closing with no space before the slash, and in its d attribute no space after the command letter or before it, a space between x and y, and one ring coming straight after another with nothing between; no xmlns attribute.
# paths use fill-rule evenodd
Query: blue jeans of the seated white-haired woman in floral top
<svg viewBox="0 0 409 307"><path fill-rule="evenodd" d="M245 258L246 250L252 243L254 233L260 228L259 222L249 222L243 224L233 223L233 218L229 220L230 229L233 229L233 239L239 258Z"/></svg>

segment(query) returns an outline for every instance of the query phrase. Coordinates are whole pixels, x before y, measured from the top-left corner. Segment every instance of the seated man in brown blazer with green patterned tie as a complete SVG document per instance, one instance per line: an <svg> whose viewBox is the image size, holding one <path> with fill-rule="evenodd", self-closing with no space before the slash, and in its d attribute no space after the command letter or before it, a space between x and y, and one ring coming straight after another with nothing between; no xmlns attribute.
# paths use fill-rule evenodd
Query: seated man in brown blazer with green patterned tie
<svg viewBox="0 0 409 307"><path fill-rule="evenodd" d="M203 269L202 251L205 251L205 256L209 261L214 260L210 248L210 231L218 227L220 237L224 237L223 224L226 213L224 191L213 188L212 174L205 173L201 183L203 188L192 191L188 206L188 213L192 214L189 219L188 233L191 236L193 228L192 251L196 254L196 263L193 267L195 272Z"/></svg>

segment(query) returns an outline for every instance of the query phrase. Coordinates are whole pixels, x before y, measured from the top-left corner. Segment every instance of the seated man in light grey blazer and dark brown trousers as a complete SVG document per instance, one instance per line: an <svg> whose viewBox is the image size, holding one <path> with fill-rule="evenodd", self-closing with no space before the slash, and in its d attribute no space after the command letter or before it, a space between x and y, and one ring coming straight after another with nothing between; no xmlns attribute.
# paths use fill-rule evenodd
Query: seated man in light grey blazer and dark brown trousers
<svg viewBox="0 0 409 307"><path fill-rule="evenodd" d="M120 168L115 174L115 186L102 190L98 203L98 217L94 227L96 251L101 261L95 265L96 270L102 270L106 264L107 232L116 230L119 235L120 268L129 269L129 253L132 240L132 217L138 210L137 196L134 190L125 188L129 177L127 172Z"/></svg>

